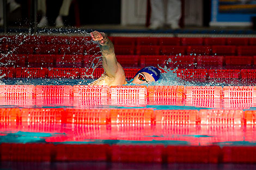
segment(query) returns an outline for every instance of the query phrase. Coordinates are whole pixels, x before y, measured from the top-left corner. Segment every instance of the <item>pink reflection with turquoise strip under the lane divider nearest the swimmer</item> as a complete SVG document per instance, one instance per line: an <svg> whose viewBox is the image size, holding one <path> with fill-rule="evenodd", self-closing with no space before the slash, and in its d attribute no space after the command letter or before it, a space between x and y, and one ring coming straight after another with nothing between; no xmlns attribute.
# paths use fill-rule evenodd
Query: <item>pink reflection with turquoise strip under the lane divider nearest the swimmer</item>
<svg viewBox="0 0 256 170"><path fill-rule="evenodd" d="M255 109L255 99L109 99L106 97L1 97L0 108Z"/></svg>

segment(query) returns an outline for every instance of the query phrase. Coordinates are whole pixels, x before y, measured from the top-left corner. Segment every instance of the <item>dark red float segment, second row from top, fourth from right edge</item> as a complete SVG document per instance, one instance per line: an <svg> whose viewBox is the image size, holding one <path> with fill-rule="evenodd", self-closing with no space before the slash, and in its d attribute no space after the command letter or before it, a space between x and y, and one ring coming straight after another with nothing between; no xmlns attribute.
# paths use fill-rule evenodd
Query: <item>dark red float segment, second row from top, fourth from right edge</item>
<svg viewBox="0 0 256 170"><path fill-rule="evenodd" d="M185 55L186 47L185 46L161 46L160 54L162 55Z"/></svg>

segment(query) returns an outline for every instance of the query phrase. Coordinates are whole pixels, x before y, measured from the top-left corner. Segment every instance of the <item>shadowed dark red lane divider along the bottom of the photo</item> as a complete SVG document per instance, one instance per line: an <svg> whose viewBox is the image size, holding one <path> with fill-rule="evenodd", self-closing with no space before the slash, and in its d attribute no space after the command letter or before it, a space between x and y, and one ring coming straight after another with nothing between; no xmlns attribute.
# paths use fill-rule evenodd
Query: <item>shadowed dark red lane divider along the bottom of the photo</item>
<svg viewBox="0 0 256 170"><path fill-rule="evenodd" d="M174 135L175 136L175 135ZM179 139L184 135L179 135ZM46 141L50 137L44 137ZM154 167L167 166L170 169L176 169L177 167L189 167L190 169L205 169L206 166L212 168L218 168L221 163L223 166L229 164L241 168L254 167L256 162L254 153L256 152L255 146L217 146L216 144L211 146L173 146L166 142L162 144L160 142L149 144L149 143L86 143L81 142L80 144L66 144L71 140L66 136L63 137L51 137L52 140L56 138L59 141L58 144L52 143L2 143L1 149L1 161L3 162L25 162L26 167L34 167L33 163L38 162L36 165L41 165L40 162L44 163L44 167L50 169L52 163L56 162L77 162L71 164L72 167L88 167L95 165L95 162L100 162L99 166L107 166L106 162L124 163L114 164L117 167L131 166L136 163L136 167L149 167L152 163ZM75 137L77 138L77 137ZM175 137L172 137L175 138ZM202 138L202 137L200 137ZM198 138L199 141L200 138ZM209 137L208 137L209 138ZM58 140L59 139L59 140ZM62 140L61 140L62 139ZM177 140L179 140L177 137ZM188 139L187 139L188 140ZM195 140L190 137L190 140ZM74 141L74 138L72 139ZM65 144L62 144L64 142ZM184 141L181 141L182 143ZM179 143L175 141L175 143ZM188 142L189 143L189 142ZM203 143L203 142L202 142ZM83 162L81 164L80 162ZM90 164L90 162L94 162ZM87 164L88 163L88 164ZM131 164L127 164L131 163ZM132 164L133 163L133 164ZM147 163L150 163L148 165ZM220 163L220 164L219 164ZM236 165L237 163L237 165ZM242 166L244 163L245 166ZM8 167L16 167L8 165ZM249 165L247 165L249 164ZM3 163L3 166L5 164ZM23 165L23 164L19 164ZM86 165L86 166L84 166ZM58 167L62 167L61 165ZM77 168L78 169L78 168Z"/></svg>

